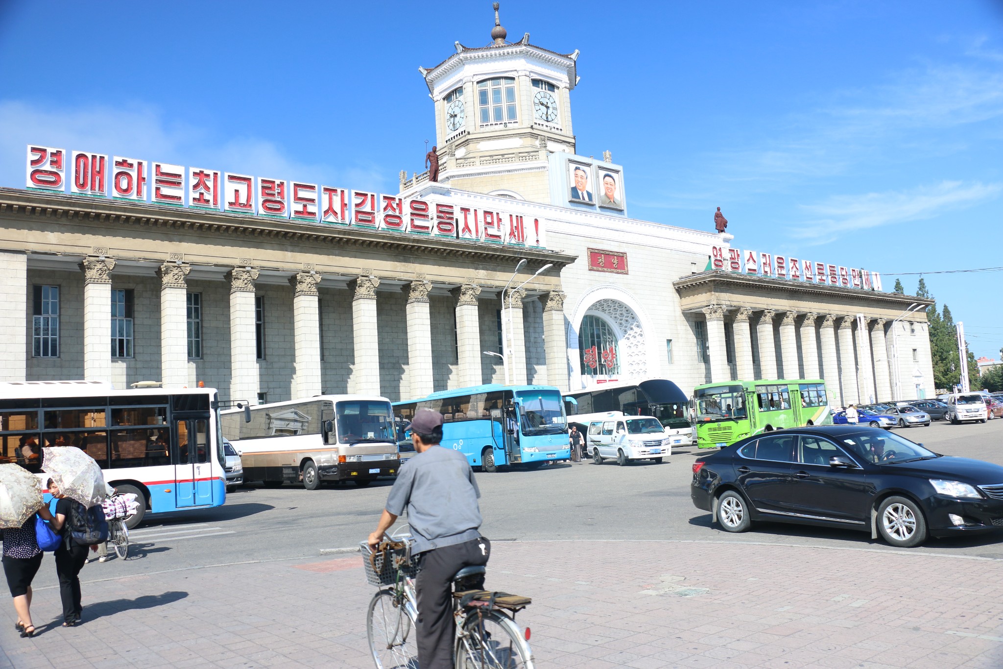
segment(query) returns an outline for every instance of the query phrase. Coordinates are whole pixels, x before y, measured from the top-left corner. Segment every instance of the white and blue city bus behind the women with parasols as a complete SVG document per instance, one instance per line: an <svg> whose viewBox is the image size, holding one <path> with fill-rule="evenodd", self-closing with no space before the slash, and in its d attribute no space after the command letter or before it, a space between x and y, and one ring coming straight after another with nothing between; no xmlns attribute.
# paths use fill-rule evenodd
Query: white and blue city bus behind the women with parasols
<svg viewBox="0 0 1003 669"><path fill-rule="evenodd" d="M42 472L42 448L77 446L104 480L146 514L227 499L220 406L213 388L115 390L92 381L0 383L0 462Z"/></svg>

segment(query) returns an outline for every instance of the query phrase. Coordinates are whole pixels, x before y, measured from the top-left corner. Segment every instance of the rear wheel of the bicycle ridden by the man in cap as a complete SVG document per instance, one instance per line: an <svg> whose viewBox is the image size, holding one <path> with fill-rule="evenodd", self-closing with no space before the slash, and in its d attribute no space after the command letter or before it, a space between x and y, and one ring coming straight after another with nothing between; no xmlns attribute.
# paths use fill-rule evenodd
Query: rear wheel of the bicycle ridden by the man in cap
<svg viewBox="0 0 1003 669"><path fill-rule="evenodd" d="M456 669L533 669L533 651L523 632L496 611L471 612L456 640Z"/></svg>

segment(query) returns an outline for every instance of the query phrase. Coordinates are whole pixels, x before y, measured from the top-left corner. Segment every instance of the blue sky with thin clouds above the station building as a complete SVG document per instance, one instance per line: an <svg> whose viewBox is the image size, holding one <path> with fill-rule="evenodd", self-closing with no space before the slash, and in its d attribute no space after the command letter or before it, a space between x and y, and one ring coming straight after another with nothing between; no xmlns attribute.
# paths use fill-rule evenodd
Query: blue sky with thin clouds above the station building
<svg viewBox="0 0 1003 669"><path fill-rule="evenodd" d="M490 3L0 0L0 185L24 146L395 191L434 125L418 65ZM1003 265L1003 2L504 0L510 39L581 49L578 152L633 217L885 273ZM908 292L918 276L904 276ZM928 274L999 357L1003 273Z"/></svg>

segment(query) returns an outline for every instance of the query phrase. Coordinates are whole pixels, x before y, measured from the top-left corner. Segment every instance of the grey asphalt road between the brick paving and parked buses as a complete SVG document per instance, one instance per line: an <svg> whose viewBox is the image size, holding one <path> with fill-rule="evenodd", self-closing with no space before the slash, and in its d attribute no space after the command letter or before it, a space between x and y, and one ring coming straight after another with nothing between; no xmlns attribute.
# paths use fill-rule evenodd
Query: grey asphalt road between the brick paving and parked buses
<svg viewBox="0 0 1003 669"><path fill-rule="evenodd" d="M935 422L901 432L946 455L1003 464L1003 420L951 425ZM929 540L918 549L893 549L869 534L781 524L760 524L733 535L712 527L710 516L689 497L697 449L677 451L671 461L626 467L562 463L537 470L477 473L492 540L614 539L703 540L882 551L921 551L1003 558L1003 534L963 541ZM371 532L391 481L366 488L348 484L308 491L240 488L223 507L154 517L131 533L129 559L88 569L88 579L185 570L196 566L318 556L322 549L351 547ZM43 570L37 585L51 585Z"/></svg>

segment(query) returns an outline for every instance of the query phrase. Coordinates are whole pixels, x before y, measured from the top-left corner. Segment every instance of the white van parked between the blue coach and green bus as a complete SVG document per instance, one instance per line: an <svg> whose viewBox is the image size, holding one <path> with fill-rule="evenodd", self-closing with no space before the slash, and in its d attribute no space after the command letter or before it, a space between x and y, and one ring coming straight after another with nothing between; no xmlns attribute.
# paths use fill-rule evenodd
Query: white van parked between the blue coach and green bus
<svg viewBox="0 0 1003 669"><path fill-rule="evenodd" d="M672 454L672 439L653 416L620 415L592 420L585 439L596 464L607 458L615 458L621 466L639 459L661 462L663 456Z"/></svg>

